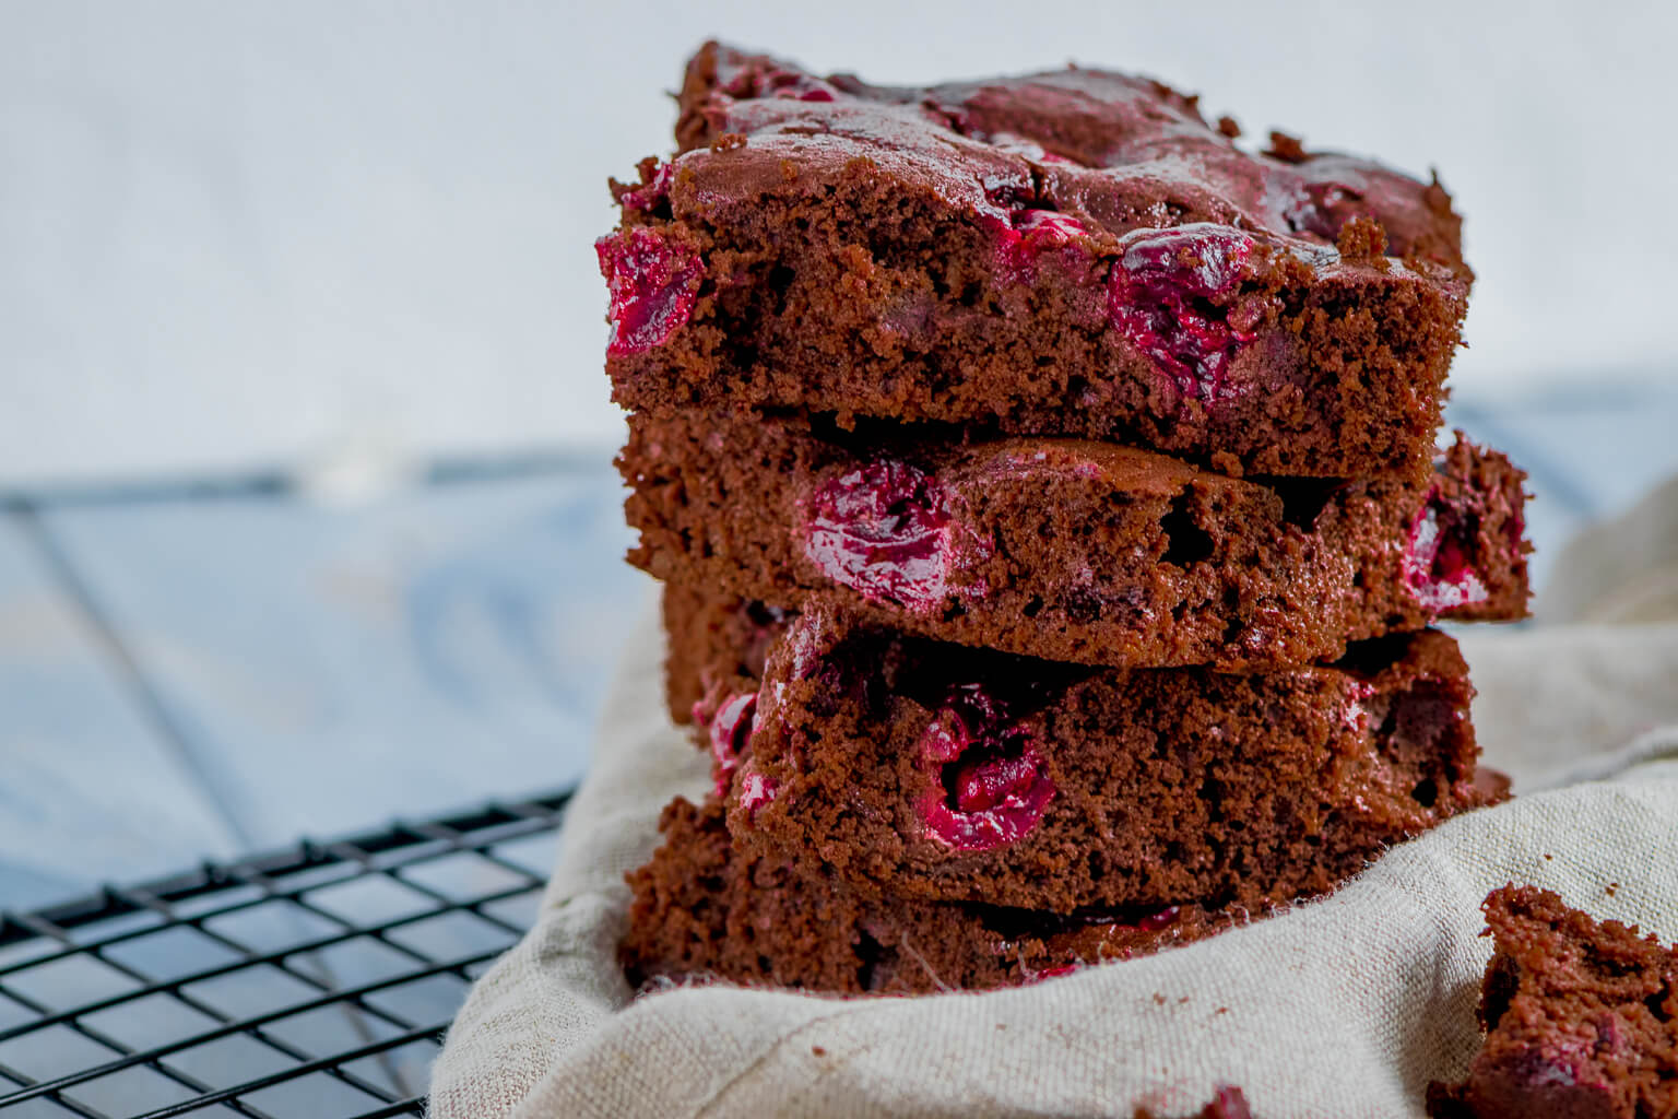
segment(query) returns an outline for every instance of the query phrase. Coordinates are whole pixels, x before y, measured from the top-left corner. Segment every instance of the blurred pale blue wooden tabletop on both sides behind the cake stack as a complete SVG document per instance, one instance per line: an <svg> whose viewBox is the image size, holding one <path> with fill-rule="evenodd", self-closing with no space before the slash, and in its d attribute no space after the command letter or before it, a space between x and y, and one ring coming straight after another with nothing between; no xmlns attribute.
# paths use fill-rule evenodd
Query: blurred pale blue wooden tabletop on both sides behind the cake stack
<svg viewBox="0 0 1678 1119"><path fill-rule="evenodd" d="M1460 401L1545 557L1678 471L1678 384ZM0 507L0 908L574 782L651 584L604 461Z"/></svg>

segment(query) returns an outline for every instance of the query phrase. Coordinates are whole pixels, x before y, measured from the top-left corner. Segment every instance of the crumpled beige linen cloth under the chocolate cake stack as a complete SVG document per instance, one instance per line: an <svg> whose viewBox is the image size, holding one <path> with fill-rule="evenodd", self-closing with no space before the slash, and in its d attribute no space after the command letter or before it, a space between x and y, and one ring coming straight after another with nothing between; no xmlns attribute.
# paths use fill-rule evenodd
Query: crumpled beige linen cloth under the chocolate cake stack
<svg viewBox="0 0 1678 1119"><path fill-rule="evenodd" d="M1262 1119L1420 1116L1478 1045L1480 901L1507 881L1678 939L1678 485L1561 557L1542 622L1470 629L1514 802L1403 844L1334 896L1161 955L982 995L725 985L633 1000L623 876L705 758L636 634L537 926L473 988L436 1119L1165 1116L1240 1085ZM1626 624L1636 622L1636 624Z"/></svg>

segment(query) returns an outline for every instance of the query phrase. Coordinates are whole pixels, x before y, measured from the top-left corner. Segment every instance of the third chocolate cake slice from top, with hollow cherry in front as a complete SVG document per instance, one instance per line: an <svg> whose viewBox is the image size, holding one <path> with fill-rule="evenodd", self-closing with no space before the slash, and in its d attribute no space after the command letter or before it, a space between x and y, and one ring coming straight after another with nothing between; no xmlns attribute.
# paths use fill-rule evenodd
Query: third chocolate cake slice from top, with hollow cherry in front
<svg viewBox="0 0 1678 1119"><path fill-rule="evenodd" d="M1087 669L816 609L705 711L735 841L866 898L1076 913L1322 894L1505 794L1445 634L1265 674Z"/></svg>

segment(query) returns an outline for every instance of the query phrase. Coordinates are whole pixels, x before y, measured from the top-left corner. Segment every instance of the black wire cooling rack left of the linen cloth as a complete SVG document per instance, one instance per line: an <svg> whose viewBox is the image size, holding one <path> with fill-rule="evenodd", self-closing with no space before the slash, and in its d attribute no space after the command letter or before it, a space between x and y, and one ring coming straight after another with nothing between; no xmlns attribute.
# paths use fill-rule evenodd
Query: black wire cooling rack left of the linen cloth
<svg viewBox="0 0 1678 1119"><path fill-rule="evenodd" d="M421 1116L569 794L0 913L5 1119Z"/></svg>

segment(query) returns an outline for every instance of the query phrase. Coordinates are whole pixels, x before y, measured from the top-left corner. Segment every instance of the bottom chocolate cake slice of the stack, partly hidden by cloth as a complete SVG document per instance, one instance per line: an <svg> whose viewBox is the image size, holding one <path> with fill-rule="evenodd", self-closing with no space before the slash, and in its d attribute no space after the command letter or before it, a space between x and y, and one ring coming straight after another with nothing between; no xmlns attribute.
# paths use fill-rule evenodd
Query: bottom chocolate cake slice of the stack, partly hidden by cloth
<svg viewBox="0 0 1678 1119"><path fill-rule="evenodd" d="M1183 945L1262 916L1201 906L1086 913L866 901L742 852L723 809L671 802L664 844L628 876L619 958L629 981L728 980L841 995L926 995L1034 983Z"/></svg>

